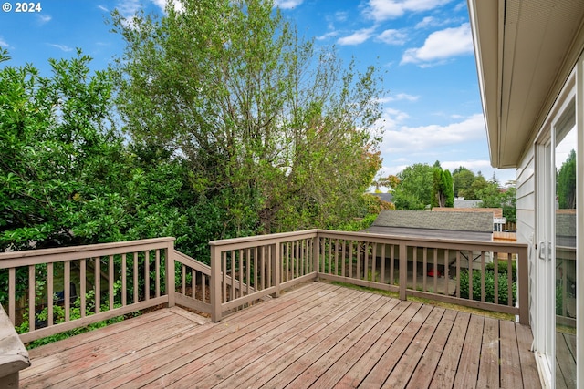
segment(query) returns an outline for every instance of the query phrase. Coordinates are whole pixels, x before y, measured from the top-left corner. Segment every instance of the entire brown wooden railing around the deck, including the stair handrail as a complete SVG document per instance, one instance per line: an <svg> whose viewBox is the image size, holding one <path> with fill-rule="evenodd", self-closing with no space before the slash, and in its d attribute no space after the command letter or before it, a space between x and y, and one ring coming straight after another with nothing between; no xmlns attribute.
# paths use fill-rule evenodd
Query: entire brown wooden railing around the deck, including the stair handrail
<svg viewBox="0 0 584 389"><path fill-rule="evenodd" d="M217 322L319 278L528 320L523 244L303 230L211 241L207 266L173 243L158 238L0 253L2 303L24 343L161 304L206 312Z"/></svg>

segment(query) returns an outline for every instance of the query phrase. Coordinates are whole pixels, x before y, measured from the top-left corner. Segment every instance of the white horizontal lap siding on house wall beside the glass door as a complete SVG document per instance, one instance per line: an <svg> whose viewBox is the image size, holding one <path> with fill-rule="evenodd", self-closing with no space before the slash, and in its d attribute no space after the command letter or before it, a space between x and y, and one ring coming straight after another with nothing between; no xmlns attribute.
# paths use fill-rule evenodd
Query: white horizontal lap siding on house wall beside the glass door
<svg viewBox="0 0 584 389"><path fill-rule="evenodd" d="M517 168L517 242L529 245L527 271L529 274L529 322L535 322L535 285L536 285L536 177L535 149L527 150Z"/></svg>

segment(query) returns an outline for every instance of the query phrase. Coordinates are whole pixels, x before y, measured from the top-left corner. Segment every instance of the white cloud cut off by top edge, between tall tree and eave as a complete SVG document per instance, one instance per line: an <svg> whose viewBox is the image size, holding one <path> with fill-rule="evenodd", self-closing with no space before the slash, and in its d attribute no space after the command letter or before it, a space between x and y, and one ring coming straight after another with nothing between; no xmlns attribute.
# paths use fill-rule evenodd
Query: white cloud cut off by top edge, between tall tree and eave
<svg viewBox="0 0 584 389"><path fill-rule="evenodd" d="M364 14L376 21L394 19L406 12L430 11L451 0L370 0Z"/></svg>

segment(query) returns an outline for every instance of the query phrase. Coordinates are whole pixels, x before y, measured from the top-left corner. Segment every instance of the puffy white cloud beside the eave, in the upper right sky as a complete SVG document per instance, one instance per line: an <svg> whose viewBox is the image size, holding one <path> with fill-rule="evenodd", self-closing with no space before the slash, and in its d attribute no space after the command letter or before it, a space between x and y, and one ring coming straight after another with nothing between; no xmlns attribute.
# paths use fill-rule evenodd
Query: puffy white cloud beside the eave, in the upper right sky
<svg viewBox="0 0 584 389"><path fill-rule="evenodd" d="M459 27L436 31L426 38L422 47L409 48L401 57L401 64L428 65L452 56L473 54L473 37L468 23Z"/></svg>

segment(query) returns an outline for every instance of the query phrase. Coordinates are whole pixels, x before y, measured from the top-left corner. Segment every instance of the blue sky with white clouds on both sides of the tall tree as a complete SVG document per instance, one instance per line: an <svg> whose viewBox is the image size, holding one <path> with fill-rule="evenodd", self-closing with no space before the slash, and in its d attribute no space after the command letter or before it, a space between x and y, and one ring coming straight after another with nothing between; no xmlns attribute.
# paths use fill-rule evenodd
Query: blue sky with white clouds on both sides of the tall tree
<svg viewBox="0 0 584 389"><path fill-rule="evenodd" d="M43 0L40 12L0 12L0 46L8 65L32 63L48 75L47 59L71 57L75 48L107 67L120 56L120 36L105 21L118 8L130 17L143 8L162 13L165 0ZM414 163L495 171L502 184L514 169L489 163L473 42L465 0L276 0L301 35L338 48L347 61L383 72L383 175Z"/></svg>

